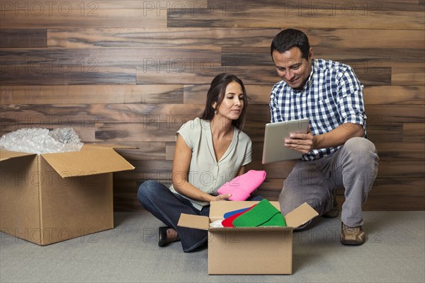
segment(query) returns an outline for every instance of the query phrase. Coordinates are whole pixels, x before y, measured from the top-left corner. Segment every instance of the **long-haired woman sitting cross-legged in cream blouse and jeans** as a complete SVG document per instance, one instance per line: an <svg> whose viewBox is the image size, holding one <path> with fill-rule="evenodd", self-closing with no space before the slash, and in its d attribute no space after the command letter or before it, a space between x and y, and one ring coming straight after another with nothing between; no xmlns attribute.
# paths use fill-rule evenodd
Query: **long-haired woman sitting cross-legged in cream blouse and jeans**
<svg viewBox="0 0 425 283"><path fill-rule="evenodd" d="M207 242L207 231L180 227L177 222L181 213L209 216L210 202L231 197L217 195L217 190L245 173L251 162L251 139L242 132L247 105L244 83L237 76L216 76L203 114L176 132L171 187L154 180L140 185L140 204L167 225L159 228L159 246L181 239L187 253Z"/></svg>

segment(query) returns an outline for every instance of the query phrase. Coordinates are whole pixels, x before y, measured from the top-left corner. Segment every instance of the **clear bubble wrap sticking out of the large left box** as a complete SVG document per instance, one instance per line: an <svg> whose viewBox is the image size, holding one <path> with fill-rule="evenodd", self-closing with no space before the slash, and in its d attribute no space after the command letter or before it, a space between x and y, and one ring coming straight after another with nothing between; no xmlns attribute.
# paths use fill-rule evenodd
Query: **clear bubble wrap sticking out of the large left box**
<svg viewBox="0 0 425 283"><path fill-rule="evenodd" d="M83 143L71 127L49 131L40 128L24 128L4 134L0 138L0 149L47 154L54 152L80 151Z"/></svg>

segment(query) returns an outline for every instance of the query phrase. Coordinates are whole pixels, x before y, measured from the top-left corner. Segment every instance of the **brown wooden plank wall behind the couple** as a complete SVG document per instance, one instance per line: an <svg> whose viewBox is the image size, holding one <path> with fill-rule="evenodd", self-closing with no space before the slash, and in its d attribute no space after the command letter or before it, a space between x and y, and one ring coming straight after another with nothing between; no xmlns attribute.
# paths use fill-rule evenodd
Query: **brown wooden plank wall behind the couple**
<svg viewBox="0 0 425 283"><path fill-rule="evenodd" d="M380 155L365 209L424 209L424 0L0 1L0 134L72 126L120 150L115 211L142 209L137 184L171 181L174 132L200 114L211 79L239 76L249 93L249 168L276 200L292 162L262 166L269 46L304 30L315 57L351 64L365 85L368 134ZM343 192L339 192L340 203Z"/></svg>

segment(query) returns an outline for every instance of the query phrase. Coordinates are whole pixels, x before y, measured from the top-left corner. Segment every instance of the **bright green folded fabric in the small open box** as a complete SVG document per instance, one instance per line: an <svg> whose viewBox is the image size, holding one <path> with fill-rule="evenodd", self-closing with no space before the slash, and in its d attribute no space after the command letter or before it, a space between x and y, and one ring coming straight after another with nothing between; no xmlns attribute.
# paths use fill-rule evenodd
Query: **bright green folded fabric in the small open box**
<svg viewBox="0 0 425 283"><path fill-rule="evenodd" d="M282 222L278 215L282 216L280 211L273 207L273 204L268 202L268 200L263 199L247 212L234 219L232 224L235 227L282 226L284 220ZM267 224L268 221L270 223Z"/></svg>

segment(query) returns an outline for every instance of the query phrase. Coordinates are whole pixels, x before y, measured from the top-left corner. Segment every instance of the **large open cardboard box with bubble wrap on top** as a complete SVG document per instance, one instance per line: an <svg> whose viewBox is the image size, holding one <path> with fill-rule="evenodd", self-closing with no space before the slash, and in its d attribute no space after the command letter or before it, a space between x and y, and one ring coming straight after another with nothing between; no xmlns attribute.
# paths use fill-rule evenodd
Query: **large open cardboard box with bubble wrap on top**
<svg viewBox="0 0 425 283"><path fill-rule="evenodd" d="M0 151L0 230L45 246L113 229L112 172L134 169L114 148Z"/></svg>

